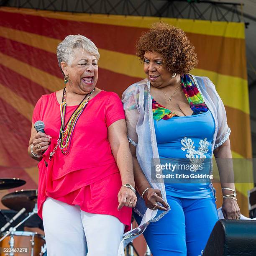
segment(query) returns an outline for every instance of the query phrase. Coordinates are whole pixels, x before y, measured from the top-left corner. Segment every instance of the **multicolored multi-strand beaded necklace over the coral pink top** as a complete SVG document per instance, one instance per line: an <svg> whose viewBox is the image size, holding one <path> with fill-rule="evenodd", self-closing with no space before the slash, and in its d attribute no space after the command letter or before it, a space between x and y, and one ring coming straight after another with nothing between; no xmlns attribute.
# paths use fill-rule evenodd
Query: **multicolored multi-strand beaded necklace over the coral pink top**
<svg viewBox="0 0 256 256"><path fill-rule="evenodd" d="M61 128L59 129L59 139L57 141L57 145L55 146L54 150L50 153L50 160L51 160L51 157L54 155L58 146L64 155L67 155L69 153L69 148L70 148L70 144L71 144L71 140L72 140L72 135L74 132L74 127L77 123L79 116L82 114L82 112L86 108L89 98L91 97L94 90L95 90L95 88L90 93L85 95L85 97L80 102L80 104L77 106L77 108L74 110L74 112L72 113L72 115L70 116L69 120L67 121L67 123L65 125L67 93L66 93L66 87L64 88L63 95L62 95L62 102L60 105Z"/></svg>

